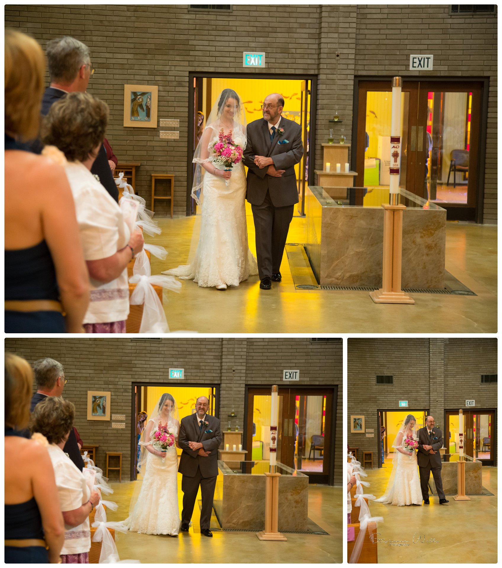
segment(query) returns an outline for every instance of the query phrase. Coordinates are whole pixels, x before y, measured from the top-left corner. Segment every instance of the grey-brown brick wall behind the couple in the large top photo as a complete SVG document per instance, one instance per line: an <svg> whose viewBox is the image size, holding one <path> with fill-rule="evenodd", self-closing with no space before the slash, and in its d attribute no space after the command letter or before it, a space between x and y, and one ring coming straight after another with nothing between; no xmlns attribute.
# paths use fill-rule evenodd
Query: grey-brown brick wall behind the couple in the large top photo
<svg viewBox="0 0 502 568"><path fill-rule="evenodd" d="M266 73L317 74L319 167L335 79L343 123L334 133L344 128L350 144L354 74L405 76L410 53L434 53L434 70L420 75L490 77L484 222L496 222L497 18L451 18L447 5L233 5L229 14L195 14L187 5L11 5L5 20L43 47L61 35L89 45L97 69L89 92L110 106L107 137L116 156L141 162L136 189L147 197L150 173L174 173L177 215L186 211L189 71L242 73L242 51L255 49L266 52ZM179 140L160 140L160 127L122 126L125 83L158 85L158 118L179 119ZM166 208L159 202L157 214Z"/></svg>

